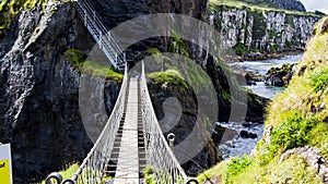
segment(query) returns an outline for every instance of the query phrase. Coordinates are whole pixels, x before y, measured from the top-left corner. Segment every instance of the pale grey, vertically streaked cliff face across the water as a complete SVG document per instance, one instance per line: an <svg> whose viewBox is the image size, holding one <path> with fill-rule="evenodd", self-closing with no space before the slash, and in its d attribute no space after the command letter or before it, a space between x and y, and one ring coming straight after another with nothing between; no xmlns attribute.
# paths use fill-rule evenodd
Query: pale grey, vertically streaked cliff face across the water
<svg viewBox="0 0 328 184"><path fill-rule="evenodd" d="M223 48L246 54L304 49L319 17L213 4L209 19L221 33Z"/></svg>

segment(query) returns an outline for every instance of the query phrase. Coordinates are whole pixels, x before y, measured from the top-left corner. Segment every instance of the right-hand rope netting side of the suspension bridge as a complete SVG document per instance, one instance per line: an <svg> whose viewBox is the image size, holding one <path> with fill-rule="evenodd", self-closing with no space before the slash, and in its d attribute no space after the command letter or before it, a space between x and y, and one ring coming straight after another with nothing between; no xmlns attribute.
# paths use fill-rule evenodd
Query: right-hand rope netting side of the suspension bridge
<svg viewBox="0 0 328 184"><path fill-rule="evenodd" d="M188 179L163 135L147 87L143 61L140 87L145 150L148 161L154 170L154 176L156 180L154 182L165 184L197 183L195 179Z"/></svg>

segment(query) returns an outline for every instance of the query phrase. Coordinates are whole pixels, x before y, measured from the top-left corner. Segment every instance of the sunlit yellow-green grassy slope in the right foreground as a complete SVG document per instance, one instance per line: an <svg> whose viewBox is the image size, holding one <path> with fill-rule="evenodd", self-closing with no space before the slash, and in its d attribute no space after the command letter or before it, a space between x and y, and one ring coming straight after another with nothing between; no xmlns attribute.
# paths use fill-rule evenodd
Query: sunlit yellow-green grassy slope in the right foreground
<svg viewBox="0 0 328 184"><path fill-rule="evenodd" d="M328 159L327 41L325 17L317 23L290 86L269 106L266 133L255 152L219 163L199 181L318 184L328 180L323 164Z"/></svg>

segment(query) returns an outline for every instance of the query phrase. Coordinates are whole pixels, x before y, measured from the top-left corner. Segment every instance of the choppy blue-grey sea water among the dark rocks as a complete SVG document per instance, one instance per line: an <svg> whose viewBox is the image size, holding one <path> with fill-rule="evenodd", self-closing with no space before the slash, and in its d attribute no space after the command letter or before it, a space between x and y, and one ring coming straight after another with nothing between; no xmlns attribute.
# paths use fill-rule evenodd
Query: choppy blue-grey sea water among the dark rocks
<svg viewBox="0 0 328 184"><path fill-rule="evenodd" d="M282 66L284 63L296 63L302 58L300 56L286 56L281 59L271 59L262 61L245 61L230 64L232 69L266 75L271 68ZM267 86L263 82L258 82L254 86L245 86L255 94L272 99L274 95L281 93L283 87ZM263 125L249 122L218 122L219 126L225 127L225 133L219 145L219 150L223 159L231 157L249 155L261 139L263 134ZM256 135L253 137L242 136L242 132Z"/></svg>

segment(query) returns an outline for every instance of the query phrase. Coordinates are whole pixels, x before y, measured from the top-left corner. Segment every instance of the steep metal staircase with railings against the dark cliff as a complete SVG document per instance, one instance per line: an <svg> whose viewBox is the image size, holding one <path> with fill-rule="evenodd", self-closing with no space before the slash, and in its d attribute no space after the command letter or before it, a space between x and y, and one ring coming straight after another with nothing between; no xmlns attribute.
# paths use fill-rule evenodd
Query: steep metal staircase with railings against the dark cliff
<svg viewBox="0 0 328 184"><path fill-rule="evenodd" d="M124 70L126 53L118 45L117 38L103 24L95 9L87 0L74 0L73 4L84 26L104 51L114 68Z"/></svg>

